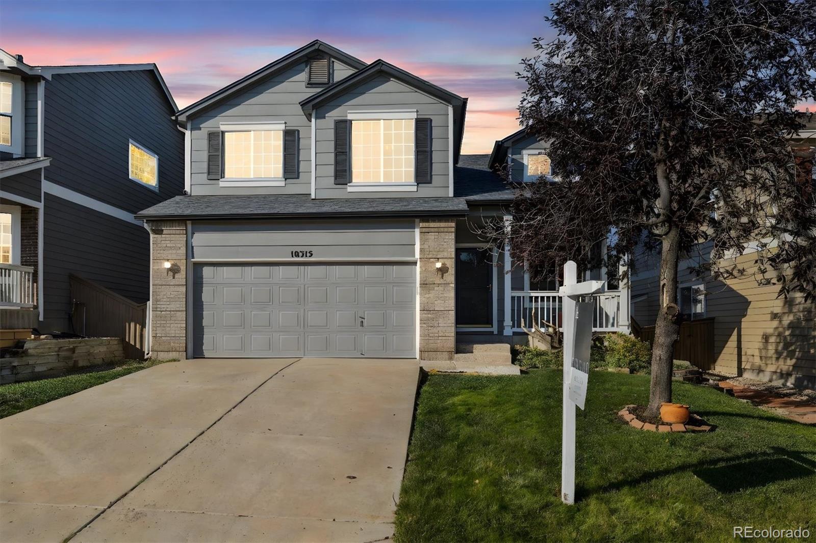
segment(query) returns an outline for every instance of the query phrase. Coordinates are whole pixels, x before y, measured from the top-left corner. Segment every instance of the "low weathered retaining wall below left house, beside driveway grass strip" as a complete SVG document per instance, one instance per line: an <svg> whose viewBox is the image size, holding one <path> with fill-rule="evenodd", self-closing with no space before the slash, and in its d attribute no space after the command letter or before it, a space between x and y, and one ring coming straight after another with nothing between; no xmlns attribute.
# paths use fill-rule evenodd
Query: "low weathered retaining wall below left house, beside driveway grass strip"
<svg viewBox="0 0 816 543"><path fill-rule="evenodd" d="M0 384L57 377L125 358L122 338L36 339L21 347L4 349L9 356L0 358Z"/></svg>

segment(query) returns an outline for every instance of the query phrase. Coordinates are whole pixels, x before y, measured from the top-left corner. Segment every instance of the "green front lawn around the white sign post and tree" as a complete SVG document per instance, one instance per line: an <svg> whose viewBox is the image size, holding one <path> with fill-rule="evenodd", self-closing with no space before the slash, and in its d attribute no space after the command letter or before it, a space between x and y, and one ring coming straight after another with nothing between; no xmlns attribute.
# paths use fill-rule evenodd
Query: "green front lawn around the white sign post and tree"
<svg viewBox="0 0 816 543"><path fill-rule="evenodd" d="M561 369L429 376L397 541L734 541L738 525L816 535L816 427L685 383L674 400L715 432L619 422L623 405L646 403L648 387L648 375L592 372L569 506L559 499Z"/></svg>

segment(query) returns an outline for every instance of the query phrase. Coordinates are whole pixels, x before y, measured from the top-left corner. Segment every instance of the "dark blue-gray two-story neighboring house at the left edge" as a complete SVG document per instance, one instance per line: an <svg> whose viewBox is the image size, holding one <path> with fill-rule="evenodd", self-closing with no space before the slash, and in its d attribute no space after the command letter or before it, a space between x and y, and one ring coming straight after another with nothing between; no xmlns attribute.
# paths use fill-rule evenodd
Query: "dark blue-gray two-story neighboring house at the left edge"
<svg viewBox="0 0 816 543"><path fill-rule="evenodd" d="M69 274L149 299L133 214L184 189L155 64L29 66L0 50L0 329L82 333Z"/></svg>

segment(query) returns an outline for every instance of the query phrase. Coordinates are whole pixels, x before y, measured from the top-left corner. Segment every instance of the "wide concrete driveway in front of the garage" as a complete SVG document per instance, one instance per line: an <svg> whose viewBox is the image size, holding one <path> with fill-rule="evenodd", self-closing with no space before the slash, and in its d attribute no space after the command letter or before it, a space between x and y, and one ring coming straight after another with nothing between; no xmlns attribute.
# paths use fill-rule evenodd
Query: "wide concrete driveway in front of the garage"
<svg viewBox="0 0 816 543"><path fill-rule="evenodd" d="M0 420L2 541L392 534L416 360L187 360Z"/></svg>

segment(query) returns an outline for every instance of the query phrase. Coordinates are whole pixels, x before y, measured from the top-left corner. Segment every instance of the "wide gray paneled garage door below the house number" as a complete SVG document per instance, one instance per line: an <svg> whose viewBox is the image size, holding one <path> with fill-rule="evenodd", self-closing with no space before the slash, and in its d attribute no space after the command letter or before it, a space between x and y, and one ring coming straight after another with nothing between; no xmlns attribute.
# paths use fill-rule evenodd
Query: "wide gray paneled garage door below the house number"
<svg viewBox="0 0 816 543"><path fill-rule="evenodd" d="M196 265L197 356L415 356L414 264Z"/></svg>

